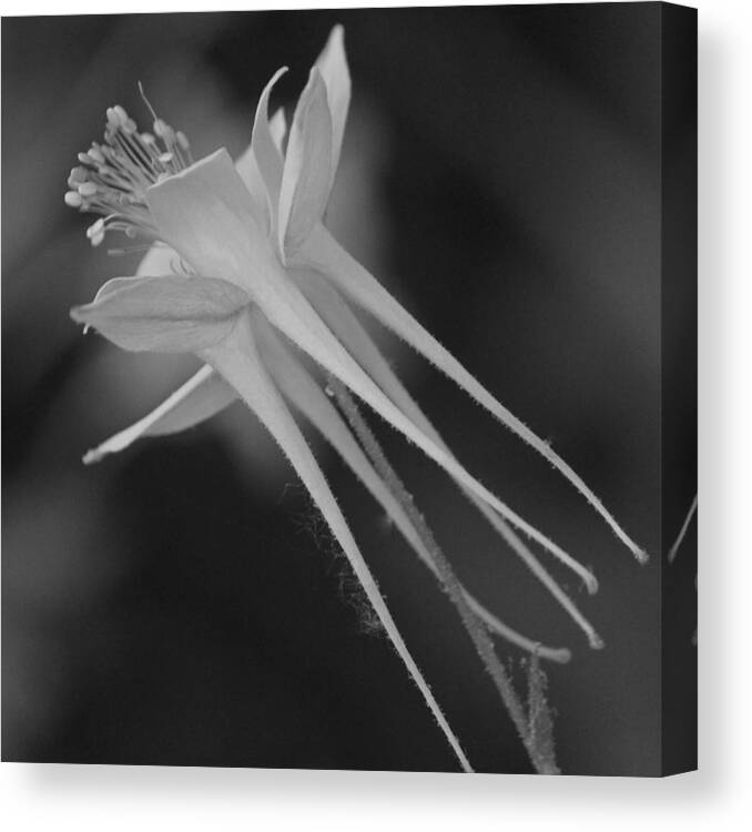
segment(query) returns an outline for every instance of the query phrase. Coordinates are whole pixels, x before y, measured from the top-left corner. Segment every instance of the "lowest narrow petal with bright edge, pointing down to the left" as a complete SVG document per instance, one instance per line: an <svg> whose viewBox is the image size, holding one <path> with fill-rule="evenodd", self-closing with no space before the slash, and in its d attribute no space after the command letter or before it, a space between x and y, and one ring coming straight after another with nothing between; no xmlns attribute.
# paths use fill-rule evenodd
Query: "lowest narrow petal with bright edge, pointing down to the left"
<svg viewBox="0 0 752 832"><path fill-rule="evenodd" d="M83 457L85 465L116 454L143 436L176 434L205 422L235 402L237 394L213 367L204 365L150 414L111 436Z"/></svg>

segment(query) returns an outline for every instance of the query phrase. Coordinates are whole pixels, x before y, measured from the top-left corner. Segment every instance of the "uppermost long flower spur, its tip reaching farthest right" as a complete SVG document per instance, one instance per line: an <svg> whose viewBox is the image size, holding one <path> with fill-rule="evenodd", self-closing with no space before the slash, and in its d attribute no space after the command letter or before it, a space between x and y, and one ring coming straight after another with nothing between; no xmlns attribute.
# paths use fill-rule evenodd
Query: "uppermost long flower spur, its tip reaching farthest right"
<svg viewBox="0 0 752 832"><path fill-rule="evenodd" d="M647 561L646 552L629 538L582 478L527 425L497 402L451 353L443 347L372 274L332 237L323 225L318 225L312 232L298 261L301 264L307 264L324 273L355 303L404 338L499 422L531 445L586 497L632 555L640 562Z"/></svg>

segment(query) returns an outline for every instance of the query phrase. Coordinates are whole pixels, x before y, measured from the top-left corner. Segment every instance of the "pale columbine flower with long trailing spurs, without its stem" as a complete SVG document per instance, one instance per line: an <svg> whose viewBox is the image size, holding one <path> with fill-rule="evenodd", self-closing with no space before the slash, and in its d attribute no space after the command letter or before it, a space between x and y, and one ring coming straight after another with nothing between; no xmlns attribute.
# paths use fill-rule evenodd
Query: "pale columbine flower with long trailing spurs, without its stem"
<svg viewBox="0 0 752 832"><path fill-rule="evenodd" d="M592 646L600 643L592 627L512 527L572 568L591 591L597 586L593 576L457 461L349 304L374 315L532 445L587 497L638 559L644 556L575 471L499 404L324 227L322 217L350 97L342 28L335 28L311 70L286 136L284 113L270 120L267 112L272 88L284 71L264 89L251 145L235 164L225 150L193 162L181 132L154 115L154 134L140 133L120 106L108 111L104 143L80 155L65 202L101 215L88 231L92 244L116 230L145 239L153 247L135 277L109 281L91 304L72 311L73 318L125 349L194 353L204 363L153 413L90 451L85 461L122 450L141 436L195 425L242 398L309 490L408 671L463 765L469 768L287 403L334 445L434 568L430 556L298 353L312 357L443 467L578 621ZM468 596L468 600L490 629L527 649L536 647L475 599ZM567 658L567 651L540 652Z"/></svg>

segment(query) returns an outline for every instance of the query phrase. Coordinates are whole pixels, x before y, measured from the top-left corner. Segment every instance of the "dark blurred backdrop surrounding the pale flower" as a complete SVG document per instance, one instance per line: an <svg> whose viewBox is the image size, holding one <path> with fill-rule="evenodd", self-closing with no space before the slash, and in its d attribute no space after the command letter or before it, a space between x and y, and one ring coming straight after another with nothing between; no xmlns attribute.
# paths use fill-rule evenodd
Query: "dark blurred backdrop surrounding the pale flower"
<svg viewBox="0 0 752 832"><path fill-rule="evenodd" d="M4 760L455 770L388 642L364 632L295 475L241 406L81 464L194 363L121 353L69 319L138 264L92 250L85 219L63 205L77 152L114 103L148 129L142 81L197 155L237 154L272 72L291 67L273 97L289 108L343 22L354 99L328 224L652 555L640 568L533 451L379 334L467 467L592 566L595 598L551 569L606 650L588 649L431 463L379 436L466 585L530 637L573 649L570 664L547 666L565 772L659 772L660 561L697 486L693 364L678 362L685 436L672 436L661 513L658 14L643 3L2 21ZM312 440L469 759L527 771L447 598ZM679 622L672 672L687 680L670 706L688 714L693 547L692 530L663 576ZM521 655L499 650L524 684Z"/></svg>

